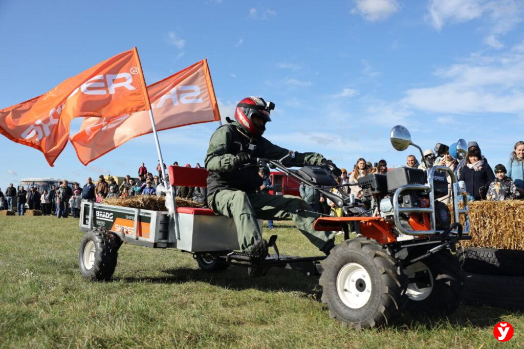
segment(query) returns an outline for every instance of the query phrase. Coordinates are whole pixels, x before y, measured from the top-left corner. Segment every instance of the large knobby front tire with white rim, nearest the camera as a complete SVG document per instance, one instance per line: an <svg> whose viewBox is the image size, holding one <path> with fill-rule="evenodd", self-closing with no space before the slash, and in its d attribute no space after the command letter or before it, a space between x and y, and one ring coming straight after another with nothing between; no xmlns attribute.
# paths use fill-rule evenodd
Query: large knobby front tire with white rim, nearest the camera
<svg viewBox="0 0 524 349"><path fill-rule="evenodd" d="M405 300L407 277L383 245L364 237L335 246L320 277L330 317L356 329L384 327Z"/></svg>

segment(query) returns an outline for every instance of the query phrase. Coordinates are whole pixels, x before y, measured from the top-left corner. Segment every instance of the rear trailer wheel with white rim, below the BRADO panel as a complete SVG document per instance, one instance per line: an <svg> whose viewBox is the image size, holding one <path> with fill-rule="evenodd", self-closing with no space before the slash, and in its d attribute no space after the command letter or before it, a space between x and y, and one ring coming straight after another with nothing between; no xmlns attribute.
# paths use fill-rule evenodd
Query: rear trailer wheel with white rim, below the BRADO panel
<svg viewBox="0 0 524 349"><path fill-rule="evenodd" d="M121 239L107 230L85 233L79 248L80 273L93 281L109 280L115 272Z"/></svg>

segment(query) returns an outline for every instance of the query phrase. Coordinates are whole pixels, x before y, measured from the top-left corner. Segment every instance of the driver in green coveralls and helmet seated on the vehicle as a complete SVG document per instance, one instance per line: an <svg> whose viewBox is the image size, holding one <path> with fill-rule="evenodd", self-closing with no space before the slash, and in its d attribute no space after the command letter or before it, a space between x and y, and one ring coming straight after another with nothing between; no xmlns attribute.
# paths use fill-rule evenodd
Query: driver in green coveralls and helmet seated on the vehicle
<svg viewBox="0 0 524 349"><path fill-rule="evenodd" d="M238 232L238 244L243 252L264 259L268 245L262 238L257 219L272 220L291 217L297 228L322 252L329 254L334 246L331 232L313 229L318 215L311 206L293 195L256 193L263 184L258 167L245 167L255 158L279 160L289 155L289 150L271 144L262 137L266 123L271 121L270 111L275 104L260 97L247 97L238 103L233 122L215 130L205 157L208 176L208 202L213 211L233 217ZM309 165L328 165L331 161L314 152L294 152L286 162ZM336 168L336 167L335 167Z"/></svg>

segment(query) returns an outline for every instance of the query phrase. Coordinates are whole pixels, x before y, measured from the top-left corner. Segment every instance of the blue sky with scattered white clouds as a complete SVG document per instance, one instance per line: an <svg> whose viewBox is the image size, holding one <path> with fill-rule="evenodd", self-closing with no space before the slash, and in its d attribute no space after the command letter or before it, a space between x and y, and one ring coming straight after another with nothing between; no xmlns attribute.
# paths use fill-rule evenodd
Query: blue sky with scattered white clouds
<svg viewBox="0 0 524 349"><path fill-rule="evenodd" d="M138 47L148 84L203 58L223 118L249 95L275 102L266 138L340 167L403 165L392 126L433 148L478 141L494 166L524 138L524 2L515 0L0 1L0 108ZM320 5L321 4L321 5ZM72 124L72 133L81 120ZM146 120L145 122L148 122ZM159 133L167 163L203 163L216 123ZM0 188L27 177L85 182L156 166L152 135L84 167L0 136Z"/></svg>

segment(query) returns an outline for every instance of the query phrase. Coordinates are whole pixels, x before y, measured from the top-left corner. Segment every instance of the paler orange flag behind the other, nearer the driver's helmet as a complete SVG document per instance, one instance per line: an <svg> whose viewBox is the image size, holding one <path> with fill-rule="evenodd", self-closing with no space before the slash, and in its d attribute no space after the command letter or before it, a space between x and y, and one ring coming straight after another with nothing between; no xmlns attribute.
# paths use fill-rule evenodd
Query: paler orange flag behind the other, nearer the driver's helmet
<svg viewBox="0 0 524 349"><path fill-rule="evenodd" d="M191 124L220 121L208 61L147 87L158 131ZM85 118L71 143L84 165L121 146L129 139L152 133L149 113Z"/></svg>

